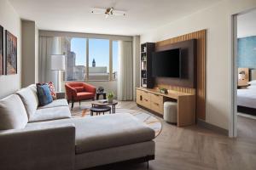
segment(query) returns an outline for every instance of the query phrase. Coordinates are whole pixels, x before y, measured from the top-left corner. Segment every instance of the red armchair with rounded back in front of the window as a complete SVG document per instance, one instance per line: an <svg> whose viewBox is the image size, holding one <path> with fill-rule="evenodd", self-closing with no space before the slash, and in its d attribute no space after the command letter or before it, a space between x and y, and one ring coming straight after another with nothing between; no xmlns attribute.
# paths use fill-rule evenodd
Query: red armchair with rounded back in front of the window
<svg viewBox="0 0 256 170"><path fill-rule="evenodd" d="M85 82L67 82L65 84L67 102L72 102L71 109L73 110L73 103L82 100L95 99L96 88Z"/></svg>

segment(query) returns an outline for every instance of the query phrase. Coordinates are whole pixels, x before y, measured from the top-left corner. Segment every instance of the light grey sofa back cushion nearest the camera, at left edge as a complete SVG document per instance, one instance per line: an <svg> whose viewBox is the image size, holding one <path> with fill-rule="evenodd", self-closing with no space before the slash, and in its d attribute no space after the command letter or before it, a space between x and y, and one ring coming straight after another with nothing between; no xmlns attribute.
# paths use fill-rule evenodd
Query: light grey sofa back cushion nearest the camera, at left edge
<svg viewBox="0 0 256 170"><path fill-rule="evenodd" d="M25 106L17 94L0 100L0 130L24 128L27 121Z"/></svg>

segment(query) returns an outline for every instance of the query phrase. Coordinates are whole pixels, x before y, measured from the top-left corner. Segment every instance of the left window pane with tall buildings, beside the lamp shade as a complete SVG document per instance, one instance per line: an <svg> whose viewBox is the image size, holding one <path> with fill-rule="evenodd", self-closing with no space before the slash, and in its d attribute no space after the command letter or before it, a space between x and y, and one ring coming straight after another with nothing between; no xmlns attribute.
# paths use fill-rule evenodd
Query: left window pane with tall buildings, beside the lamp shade
<svg viewBox="0 0 256 170"><path fill-rule="evenodd" d="M77 37L61 38L62 52L66 54L66 81L84 81L86 75L86 39Z"/></svg>

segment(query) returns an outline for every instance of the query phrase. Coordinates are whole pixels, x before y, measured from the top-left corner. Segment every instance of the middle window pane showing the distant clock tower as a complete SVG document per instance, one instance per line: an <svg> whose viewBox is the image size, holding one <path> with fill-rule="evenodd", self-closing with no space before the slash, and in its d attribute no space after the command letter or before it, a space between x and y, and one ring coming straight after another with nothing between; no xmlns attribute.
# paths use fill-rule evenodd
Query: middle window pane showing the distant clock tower
<svg viewBox="0 0 256 170"><path fill-rule="evenodd" d="M89 80L109 79L109 40L89 39Z"/></svg>

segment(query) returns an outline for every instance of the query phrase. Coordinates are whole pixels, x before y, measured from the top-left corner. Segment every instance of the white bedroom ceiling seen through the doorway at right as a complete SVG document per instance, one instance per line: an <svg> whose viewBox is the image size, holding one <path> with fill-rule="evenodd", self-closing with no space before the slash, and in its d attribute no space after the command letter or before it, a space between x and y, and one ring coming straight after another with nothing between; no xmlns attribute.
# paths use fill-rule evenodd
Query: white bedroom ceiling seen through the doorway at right
<svg viewBox="0 0 256 170"><path fill-rule="evenodd" d="M237 37L256 36L256 9L237 16Z"/></svg>

